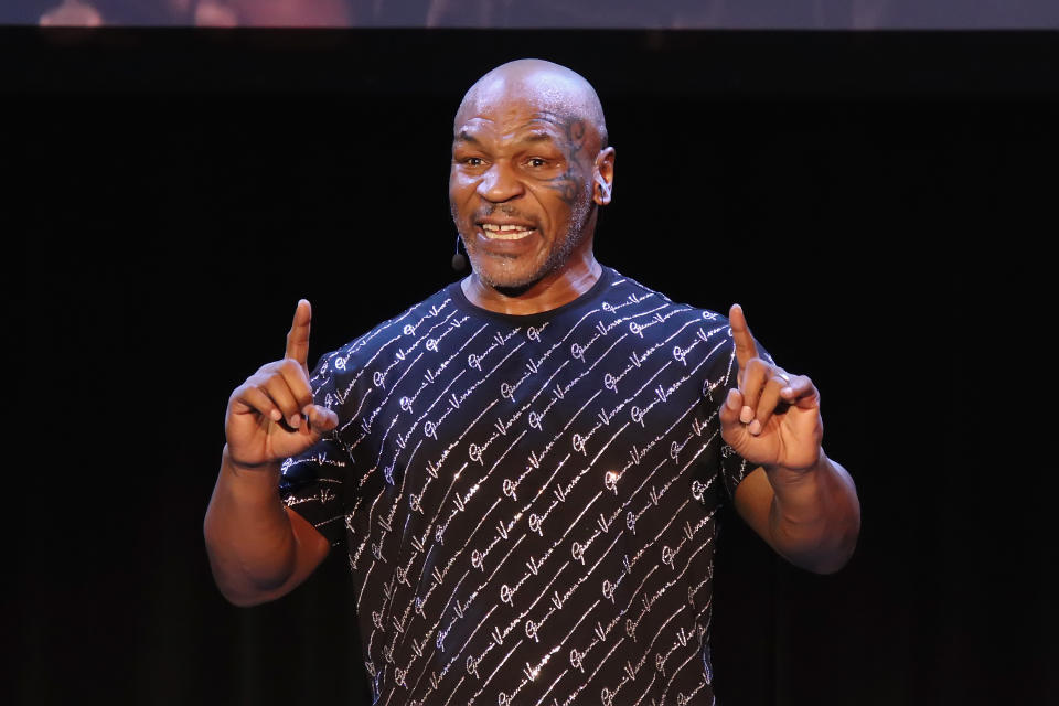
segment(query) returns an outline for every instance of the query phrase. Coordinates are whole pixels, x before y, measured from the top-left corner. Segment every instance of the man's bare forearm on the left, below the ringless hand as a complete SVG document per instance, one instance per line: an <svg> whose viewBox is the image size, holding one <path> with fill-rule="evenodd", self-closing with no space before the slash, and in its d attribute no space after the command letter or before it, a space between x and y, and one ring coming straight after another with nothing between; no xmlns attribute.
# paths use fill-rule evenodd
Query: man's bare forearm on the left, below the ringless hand
<svg viewBox="0 0 1059 706"><path fill-rule="evenodd" d="M203 534L217 588L236 605L269 600L290 580L297 546L278 464L245 469L222 453Z"/></svg>

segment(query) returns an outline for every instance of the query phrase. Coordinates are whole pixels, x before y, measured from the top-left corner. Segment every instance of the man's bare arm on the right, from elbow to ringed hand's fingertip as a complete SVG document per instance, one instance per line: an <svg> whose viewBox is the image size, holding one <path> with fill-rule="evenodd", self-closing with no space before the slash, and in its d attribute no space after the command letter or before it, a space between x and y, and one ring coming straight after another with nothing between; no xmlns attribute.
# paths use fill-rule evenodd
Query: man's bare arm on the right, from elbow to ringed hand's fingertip
<svg viewBox="0 0 1059 706"><path fill-rule="evenodd" d="M758 357L742 309L729 312L739 386L720 409L721 435L759 466L736 488L736 509L781 556L811 571L837 571L860 532L853 479L821 447L820 393Z"/></svg>

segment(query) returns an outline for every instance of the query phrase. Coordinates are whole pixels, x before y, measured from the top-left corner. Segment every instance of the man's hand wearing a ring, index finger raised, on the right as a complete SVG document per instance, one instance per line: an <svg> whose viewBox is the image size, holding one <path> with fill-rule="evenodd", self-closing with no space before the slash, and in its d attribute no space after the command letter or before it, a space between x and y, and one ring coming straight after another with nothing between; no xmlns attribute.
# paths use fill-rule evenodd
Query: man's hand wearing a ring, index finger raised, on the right
<svg viewBox="0 0 1059 706"><path fill-rule="evenodd" d="M758 346L739 304L728 313L739 364L739 387L720 409L725 441L750 463L771 471L803 471L823 456L820 393L805 375L790 375L758 356Z"/></svg>

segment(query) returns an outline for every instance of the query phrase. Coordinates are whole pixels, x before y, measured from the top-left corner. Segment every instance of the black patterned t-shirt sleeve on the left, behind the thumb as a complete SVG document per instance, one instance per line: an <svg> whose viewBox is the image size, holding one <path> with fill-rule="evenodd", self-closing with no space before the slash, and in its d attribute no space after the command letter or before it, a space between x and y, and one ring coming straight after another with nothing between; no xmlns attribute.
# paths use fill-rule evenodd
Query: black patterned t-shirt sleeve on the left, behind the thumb
<svg viewBox="0 0 1059 706"><path fill-rule="evenodd" d="M336 394L333 356L324 356L310 377L313 403L339 414L342 426L341 396ZM279 495L284 504L312 524L332 546L345 538L345 506L349 500L347 479L353 462L338 430L330 432L311 449L284 460L280 467Z"/></svg>

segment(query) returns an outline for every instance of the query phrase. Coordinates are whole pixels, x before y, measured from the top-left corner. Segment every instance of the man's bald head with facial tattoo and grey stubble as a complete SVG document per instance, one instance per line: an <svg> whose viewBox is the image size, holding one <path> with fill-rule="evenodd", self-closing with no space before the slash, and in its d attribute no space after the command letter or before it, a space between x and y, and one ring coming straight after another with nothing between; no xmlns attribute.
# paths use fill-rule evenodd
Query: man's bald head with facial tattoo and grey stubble
<svg viewBox="0 0 1059 706"><path fill-rule="evenodd" d="M482 76L456 114L449 174L452 221L479 278L517 291L590 252L613 164L581 76L539 60Z"/></svg>

